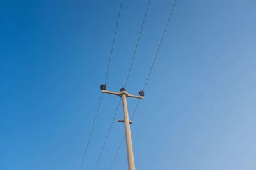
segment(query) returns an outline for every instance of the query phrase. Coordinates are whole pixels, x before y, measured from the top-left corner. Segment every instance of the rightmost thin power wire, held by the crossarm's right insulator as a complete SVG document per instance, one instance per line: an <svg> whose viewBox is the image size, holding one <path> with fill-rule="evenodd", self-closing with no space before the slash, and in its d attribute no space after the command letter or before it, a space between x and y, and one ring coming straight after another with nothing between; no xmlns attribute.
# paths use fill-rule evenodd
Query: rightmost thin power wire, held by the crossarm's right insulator
<svg viewBox="0 0 256 170"><path fill-rule="evenodd" d="M145 82L145 85L144 85L144 87L143 87L143 90L145 90L145 88L146 88L146 86L147 86L148 78L149 78L149 76L150 76L150 74L151 74L151 72L152 72L152 68L153 68L153 66L154 66L154 63L155 63L155 61L156 61L157 54L158 54L158 52L159 52L159 48L160 48L160 46L161 46L161 44L162 44L162 41L163 41L163 38L164 38L164 34L165 34L166 29L167 29L167 27L168 27L168 24L169 24L169 22L170 22L170 18L172 17L172 13L173 13L173 9L174 9L174 6L175 6L175 4L176 4L176 1L177 1L177 0L174 1L174 4L173 4L173 6L172 6L172 11L171 11L171 13L170 13L170 15L169 15L168 21L167 21L166 26L165 26L165 28L164 28L164 32L163 32L161 41L160 41L159 46L158 46L158 48L157 48L157 52L156 52L156 55L155 55L155 57L154 57L154 61L152 62L152 66L150 67L150 71L149 71L149 73L148 73L147 80L146 80L146 82ZM132 113L131 120L132 120L132 118L134 117L134 114L136 113L136 110L137 110L137 108L138 108L139 103L140 103L140 100L139 100L138 103L136 104L136 107L135 107L135 109L134 109L134 112ZM115 156L114 156L114 158L113 158L113 161L112 161L111 166L109 167L109 169L112 168L112 166L113 166L113 164L114 164L114 162L115 162L116 155L117 155L117 153L119 152L119 150L120 150L120 148L121 148L121 146L122 146L122 143L123 143L123 141L124 141L124 138L125 138L125 134L124 134L124 136L123 136L123 138L122 138L122 140L121 140L121 142L120 142L120 144L119 144L119 146L118 146L118 149L116 150Z"/></svg>

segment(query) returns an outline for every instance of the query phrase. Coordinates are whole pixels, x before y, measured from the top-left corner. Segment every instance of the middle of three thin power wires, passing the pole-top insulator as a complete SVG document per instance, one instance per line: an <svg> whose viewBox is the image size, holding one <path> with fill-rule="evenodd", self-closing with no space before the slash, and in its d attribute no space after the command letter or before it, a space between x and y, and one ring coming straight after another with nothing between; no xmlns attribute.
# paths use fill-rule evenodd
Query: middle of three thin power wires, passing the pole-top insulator
<svg viewBox="0 0 256 170"><path fill-rule="evenodd" d="M130 76L130 73L131 73L132 64L133 64L133 61L134 61L134 58L135 58L135 55L136 55L136 51L137 51L138 44L139 44L139 41L140 41L141 33L142 33L142 31L143 31L143 26L144 26L145 20L146 20L146 18L147 18L147 13L148 13L149 4L150 4L150 0L148 1L147 10L145 11L145 16L144 16L144 18L143 18L143 22L142 22L142 25L141 25L139 38L138 38L138 41L137 41L137 44L136 44L136 48L135 48L135 51L134 51L134 55L133 55L133 57L132 57L132 62L131 62L131 66L130 66L130 69L129 69L129 73L128 73L127 80L126 80L126 83L125 83L125 87L126 87L126 85L127 85L127 82L128 82L128 79L129 79L129 76ZM109 132L111 131L113 122L114 122L115 117L116 117L116 112L118 111L118 108L119 108L119 106L120 106L120 101L121 101L121 99L119 100L118 106L117 106L117 108L116 108L115 114L114 114L113 119L112 119L112 122L111 122L111 125L109 126L108 134L107 134L107 136L106 136L106 138L105 138L104 144L103 144L102 149L101 149L101 151L100 151L100 155L99 155L99 157L98 157L98 160L97 160L95 169L97 169L97 166L98 166L98 164L99 164L99 161L100 161L102 152L103 152L103 150L104 150L104 148L105 148L106 142L108 141Z"/></svg>

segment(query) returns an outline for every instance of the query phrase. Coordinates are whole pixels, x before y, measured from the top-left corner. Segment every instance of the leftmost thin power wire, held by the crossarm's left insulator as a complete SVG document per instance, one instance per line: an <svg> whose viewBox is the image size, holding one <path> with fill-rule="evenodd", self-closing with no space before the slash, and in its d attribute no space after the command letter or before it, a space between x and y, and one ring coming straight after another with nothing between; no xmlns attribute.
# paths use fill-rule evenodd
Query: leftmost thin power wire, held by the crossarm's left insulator
<svg viewBox="0 0 256 170"><path fill-rule="evenodd" d="M121 0L119 11L118 11L118 18L117 18L117 21L116 21L115 33L114 33L113 43L112 43L111 52L110 52L110 56L109 56L108 70L107 70L107 74L106 74L106 78L105 78L105 83L104 83L105 85L106 85L106 82L108 80L109 67L110 67L110 63L111 63L113 48L114 48L114 45L115 45L116 31L117 31L118 22L119 22L119 18L120 18L120 13L121 13L121 9L122 9L122 3L123 3L123 0ZM80 170L82 169L83 164L84 164L84 160L86 158L86 153L87 153L88 146L89 146L89 143L90 143L90 140L91 140L91 137L92 137L92 132L93 132L93 129L94 129L94 126L95 126L95 122L97 120L98 113L99 113L99 108L100 108L100 104L101 104L101 101L102 101L102 96L103 96L103 94L101 94L101 96L100 96L100 101L99 101L98 108L97 108L97 111L96 111L96 114L95 114L95 117L94 117L94 120L93 120L90 136L89 136L88 142L86 144L86 149L84 150L84 155L83 155L83 160L82 160L82 163L81 163L81 166L80 166Z"/></svg>

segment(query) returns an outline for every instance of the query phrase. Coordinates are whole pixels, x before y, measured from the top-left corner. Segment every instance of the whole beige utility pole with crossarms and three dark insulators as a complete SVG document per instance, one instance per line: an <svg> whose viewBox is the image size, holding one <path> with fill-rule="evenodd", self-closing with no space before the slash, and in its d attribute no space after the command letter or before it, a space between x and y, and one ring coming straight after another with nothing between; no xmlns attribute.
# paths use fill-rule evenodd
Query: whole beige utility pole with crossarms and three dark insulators
<svg viewBox="0 0 256 170"><path fill-rule="evenodd" d="M107 91L106 90L106 85L101 85L100 89L103 93L115 94L115 95L122 98L123 111L124 111L124 120L118 120L118 122L124 122L127 159L128 159L129 170L135 170L134 155L133 155L133 150L132 150L132 136L131 136L131 129L130 129L130 124L132 124L132 121L129 120L126 98L127 97L133 97L133 98L138 98L138 99L144 99L144 92L140 91L139 92L140 96L136 96L136 95L128 94L124 87L120 89L120 92Z"/></svg>

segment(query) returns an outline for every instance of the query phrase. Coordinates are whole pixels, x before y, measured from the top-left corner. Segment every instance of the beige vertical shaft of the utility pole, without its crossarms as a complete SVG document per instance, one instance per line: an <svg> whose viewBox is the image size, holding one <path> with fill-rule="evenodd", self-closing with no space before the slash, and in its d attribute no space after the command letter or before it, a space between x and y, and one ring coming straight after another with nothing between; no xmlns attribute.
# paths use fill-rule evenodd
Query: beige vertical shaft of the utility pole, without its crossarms
<svg viewBox="0 0 256 170"><path fill-rule="evenodd" d="M127 148L127 159L129 170L135 170L134 155L132 150L132 136L129 122L129 114L127 109L126 95L122 95L123 111L124 111L124 127Z"/></svg>

